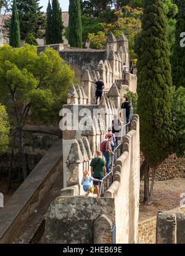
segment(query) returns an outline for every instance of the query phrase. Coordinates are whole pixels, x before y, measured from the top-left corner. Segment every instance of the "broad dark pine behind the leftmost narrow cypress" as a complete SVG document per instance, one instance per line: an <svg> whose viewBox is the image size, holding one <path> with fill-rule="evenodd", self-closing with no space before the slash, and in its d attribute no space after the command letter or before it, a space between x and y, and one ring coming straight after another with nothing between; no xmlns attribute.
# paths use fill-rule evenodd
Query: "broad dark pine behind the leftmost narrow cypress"
<svg viewBox="0 0 185 256"><path fill-rule="evenodd" d="M41 30L45 28L46 18L41 9L39 0L17 0L22 40L25 40L28 34L32 34L35 38L44 38Z"/></svg>

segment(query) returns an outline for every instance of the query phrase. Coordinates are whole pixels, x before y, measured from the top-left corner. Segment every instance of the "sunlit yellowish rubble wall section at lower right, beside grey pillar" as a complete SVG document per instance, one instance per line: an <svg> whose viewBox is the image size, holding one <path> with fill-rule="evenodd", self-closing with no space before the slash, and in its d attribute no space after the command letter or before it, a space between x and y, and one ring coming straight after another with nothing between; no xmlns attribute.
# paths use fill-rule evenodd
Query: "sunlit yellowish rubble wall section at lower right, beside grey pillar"
<svg viewBox="0 0 185 256"><path fill-rule="evenodd" d="M138 244L156 243L157 217L141 221L138 226Z"/></svg>

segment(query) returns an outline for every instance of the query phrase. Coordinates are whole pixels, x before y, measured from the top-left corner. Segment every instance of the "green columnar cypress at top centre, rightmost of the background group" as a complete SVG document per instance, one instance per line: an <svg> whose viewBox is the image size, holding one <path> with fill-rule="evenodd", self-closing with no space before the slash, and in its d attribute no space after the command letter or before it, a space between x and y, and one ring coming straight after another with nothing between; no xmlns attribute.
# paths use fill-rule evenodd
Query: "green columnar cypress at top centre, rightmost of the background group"
<svg viewBox="0 0 185 256"><path fill-rule="evenodd" d="M82 47L81 7L79 0L70 0L69 4L69 36L71 47Z"/></svg>

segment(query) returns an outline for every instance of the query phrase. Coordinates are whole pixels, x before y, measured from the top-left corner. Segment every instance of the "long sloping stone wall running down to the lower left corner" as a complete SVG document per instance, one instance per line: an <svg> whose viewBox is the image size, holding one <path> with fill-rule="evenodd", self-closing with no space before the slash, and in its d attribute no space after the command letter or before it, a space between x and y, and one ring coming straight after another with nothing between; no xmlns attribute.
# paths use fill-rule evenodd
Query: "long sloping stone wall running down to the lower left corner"
<svg viewBox="0 0 185 256"><path fill-rule="evenodd" d="M5 207L1 209L0 244L14 241L59 175L62 175L62 141L60 139L44 155Z"/></svg>

